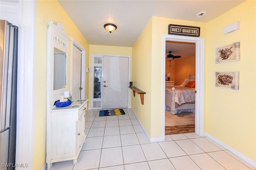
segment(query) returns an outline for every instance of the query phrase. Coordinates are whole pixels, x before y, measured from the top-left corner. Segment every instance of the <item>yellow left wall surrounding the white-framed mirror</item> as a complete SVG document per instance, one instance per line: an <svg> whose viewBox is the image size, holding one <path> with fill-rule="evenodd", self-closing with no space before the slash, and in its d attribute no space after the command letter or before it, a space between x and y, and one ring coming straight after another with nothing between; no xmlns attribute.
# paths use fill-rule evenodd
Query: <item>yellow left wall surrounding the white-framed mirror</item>
<svg viewBox="0 0 256 170"><path fill-rule="evenodd" d="M36 2L36 49L35 49L35 115L34 115L34 153L33 169L38 170L46 162L46 40L48 22L62 22L69 38L74 39L89 51L89 44L78 28L60 6L57 0ZM71 51L70 51L71 53ZM69 54L71 59L71 55ZM89 66L86 53L86 67ZM71 68L69 66L69 68ZM88 87L88 80L86 80ZM88 97L88 90L86 90Z"/></svg>

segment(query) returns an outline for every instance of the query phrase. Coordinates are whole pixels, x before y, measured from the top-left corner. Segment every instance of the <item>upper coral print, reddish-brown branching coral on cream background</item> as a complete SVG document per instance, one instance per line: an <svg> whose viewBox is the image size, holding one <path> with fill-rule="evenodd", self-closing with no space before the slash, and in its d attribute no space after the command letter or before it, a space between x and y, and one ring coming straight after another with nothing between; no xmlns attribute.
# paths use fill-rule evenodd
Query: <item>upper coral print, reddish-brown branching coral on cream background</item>
<svg viewBox="0 0 256 170"><path fill-rule="evenodd" d="M229 45L216 48L216 63L239 61L240 60L240 42L234 42Z"/></svg>

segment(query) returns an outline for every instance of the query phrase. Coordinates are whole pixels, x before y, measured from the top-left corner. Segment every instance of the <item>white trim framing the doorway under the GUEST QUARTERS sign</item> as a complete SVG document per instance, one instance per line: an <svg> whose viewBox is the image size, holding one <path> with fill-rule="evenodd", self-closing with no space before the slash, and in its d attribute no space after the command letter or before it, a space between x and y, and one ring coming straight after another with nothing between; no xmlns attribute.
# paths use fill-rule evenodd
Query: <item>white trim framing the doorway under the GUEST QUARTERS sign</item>
<svg viewBox="0 0 256 170"><path fill-rule="evenodd" d="M166 41L196 43L196 115L195 132L204 136L204 38L164 34L162 38L162 65L165 65ZM199 90L200 89L200 90ZM162 137L165 136L165 68L162 67Z"/></svg>

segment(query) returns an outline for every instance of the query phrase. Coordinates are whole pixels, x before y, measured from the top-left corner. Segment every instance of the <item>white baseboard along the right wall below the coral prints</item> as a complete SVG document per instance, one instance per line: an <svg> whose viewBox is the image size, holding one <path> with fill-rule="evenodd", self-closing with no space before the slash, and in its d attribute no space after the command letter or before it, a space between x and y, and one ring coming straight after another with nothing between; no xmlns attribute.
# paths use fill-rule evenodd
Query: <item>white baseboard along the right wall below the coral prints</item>
<svg viewBox="0 0 256 170"><path fill-rule="evenodd" d="M248 164L256 167L256 162L254 160L252 160L251 158L248 158L247 156L245 156L244 154L238 152L237 150L235 150L234 148L228 146L226 143L222 142L221 140L219 140L218 138L208 134L208 133L204 133L204 136L207 136L208 138L212 139L214 142L220 144L221 146L223 146L224 148L226 148L227 150L229 150L230 152L232 152L233 154L235 154L236 156L238 156L239 158L241 158L242 160L244 160L245 162L247 162Z"/></svg>

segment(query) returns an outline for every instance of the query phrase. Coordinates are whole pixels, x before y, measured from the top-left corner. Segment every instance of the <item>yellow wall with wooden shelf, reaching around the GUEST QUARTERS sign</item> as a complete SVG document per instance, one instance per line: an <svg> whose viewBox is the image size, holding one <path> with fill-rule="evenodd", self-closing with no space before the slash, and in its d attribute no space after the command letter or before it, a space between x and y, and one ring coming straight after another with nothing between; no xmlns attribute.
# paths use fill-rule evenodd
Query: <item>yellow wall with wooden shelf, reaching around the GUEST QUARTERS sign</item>
<svg viewBox="0 0 256 170"><path fill-rule="evenodd" d="M153 16L140 34L132 48L132 81L134 86L146 92L144 105L139 97L132 97L132 108L138 114L140 121L151 138L162 136L162 75L165 65L162 65L162 38L168 34L168 25L188 25L200 27L200 37L206 37L206 24L171 18ZM165 44L164 44L165 45Z"/></svg>

